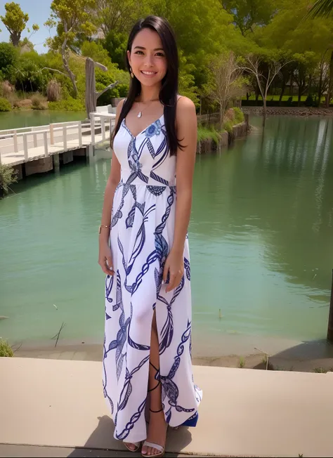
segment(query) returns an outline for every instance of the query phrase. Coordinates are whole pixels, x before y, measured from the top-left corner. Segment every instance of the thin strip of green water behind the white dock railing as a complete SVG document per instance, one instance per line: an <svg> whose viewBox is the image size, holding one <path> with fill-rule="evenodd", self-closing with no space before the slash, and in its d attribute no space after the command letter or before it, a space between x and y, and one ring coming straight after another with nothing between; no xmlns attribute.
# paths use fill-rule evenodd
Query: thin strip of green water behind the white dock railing
<svg viewBox="0 0 333 458"><path fill-rule="evenodd" d="M80 121L86 112L61 112L48 110L21 110L0 113L0 131L20 127L46 126L51 122Z"/></svg>

